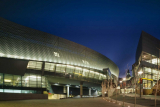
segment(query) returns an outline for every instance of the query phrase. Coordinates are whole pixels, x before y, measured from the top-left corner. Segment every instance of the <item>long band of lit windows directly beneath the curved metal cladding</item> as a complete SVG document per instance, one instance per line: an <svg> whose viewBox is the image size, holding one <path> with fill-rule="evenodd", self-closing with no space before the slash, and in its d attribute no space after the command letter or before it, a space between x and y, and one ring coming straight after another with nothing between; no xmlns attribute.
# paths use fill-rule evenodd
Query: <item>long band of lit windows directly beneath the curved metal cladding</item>
<svg viewBox="0 0 160 107"><path fill-rule="evenodd" d="M42 62L36 62L36 61L29 61L27 69L34 69L34 70L40 70L42 68ZM60 73L64 75L69 75L73 78L92 78L97 80L103 80L106 79L106 75L101 74L97 70L90 70L86 68L71 66L71 65L64 65L64 64L55 64L55 63L47 63L45 62L45 71L48 72L55 72Z"/></svg>

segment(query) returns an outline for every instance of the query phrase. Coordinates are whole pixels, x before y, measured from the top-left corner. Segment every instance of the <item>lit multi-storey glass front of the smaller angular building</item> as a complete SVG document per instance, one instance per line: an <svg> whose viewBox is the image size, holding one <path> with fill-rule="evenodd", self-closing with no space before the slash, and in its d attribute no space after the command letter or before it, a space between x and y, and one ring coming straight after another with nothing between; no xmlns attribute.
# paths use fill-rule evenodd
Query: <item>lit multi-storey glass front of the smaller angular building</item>
<svg viewBox="0 0 160 107"><path fill-rule="evenodd" d="M155 81L159 79L160 72L157 67L160 65L159 61L158 57L142 51L139 64L134 67L134 72L138 75L137 80L143 78L143 89L151 89L155 85ZM141 62L145 62L145 64L141 64ZM140 71L142 74L138 74Z"/></svg>

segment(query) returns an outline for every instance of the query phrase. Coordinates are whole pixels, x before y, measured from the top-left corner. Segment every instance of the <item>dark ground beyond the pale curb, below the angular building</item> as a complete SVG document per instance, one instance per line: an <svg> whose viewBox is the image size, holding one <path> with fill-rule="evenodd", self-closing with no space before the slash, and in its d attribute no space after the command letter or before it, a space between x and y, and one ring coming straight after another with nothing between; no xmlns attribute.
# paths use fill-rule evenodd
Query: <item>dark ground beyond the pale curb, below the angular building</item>
<svg viewBox="0 0 160 107"><path fill-rule="evenodd" d="M144 96L143 96L144 97ZM137 96L136 98L136 104L137 105L141 105L141 106L146 106L146 107L154 107L155 106L155 100L151 100L149 99L149 96L147 96L148 98L140 98ZM153 96L151 96L153 97ZM127 103L130 103L130 104L134 104L135 103L135 98L133 97L133 95L126 95L125 97L123 97L123 95L118 95L117 98L116 96L113 96L111 97L112 99L114 100L118 100L118 101L125 101ZM123 99L124 98L124 99ZM139 106L136 106L136 107L139 107ZM157 107L160 107L160 101L158 100L157 101Z"/></svg>

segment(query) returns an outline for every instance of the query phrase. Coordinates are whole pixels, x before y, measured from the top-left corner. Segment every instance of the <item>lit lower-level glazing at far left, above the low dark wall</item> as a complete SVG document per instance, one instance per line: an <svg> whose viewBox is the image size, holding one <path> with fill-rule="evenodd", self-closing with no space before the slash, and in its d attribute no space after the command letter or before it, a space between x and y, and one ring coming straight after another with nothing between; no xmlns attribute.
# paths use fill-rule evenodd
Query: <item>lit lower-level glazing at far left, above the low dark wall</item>
<svg viewBox="0 0 160 107"><path fill-rule="evenodd" d="M15 88L17 89L15 89ZM26 73L24 76L0 73L0 92L6 93L40 93L36 90L19 90L22 87L47 88L48 81L44 76ZM9 89L5 89L9 88Z"/></svg>

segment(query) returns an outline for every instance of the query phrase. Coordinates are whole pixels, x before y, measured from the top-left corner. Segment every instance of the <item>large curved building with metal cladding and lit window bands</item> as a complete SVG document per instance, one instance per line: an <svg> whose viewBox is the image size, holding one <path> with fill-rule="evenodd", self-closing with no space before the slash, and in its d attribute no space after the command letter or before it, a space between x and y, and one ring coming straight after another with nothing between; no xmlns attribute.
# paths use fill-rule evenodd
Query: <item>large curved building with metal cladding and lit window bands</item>
<svg viewBox="0 0 160 107"><path fill-rule="evenodd" d="M75 42L0 18L0 92L97 95L119 68Z"/></svg>

